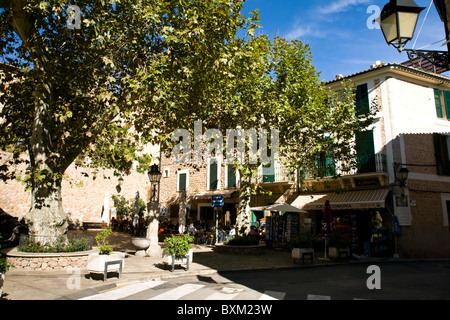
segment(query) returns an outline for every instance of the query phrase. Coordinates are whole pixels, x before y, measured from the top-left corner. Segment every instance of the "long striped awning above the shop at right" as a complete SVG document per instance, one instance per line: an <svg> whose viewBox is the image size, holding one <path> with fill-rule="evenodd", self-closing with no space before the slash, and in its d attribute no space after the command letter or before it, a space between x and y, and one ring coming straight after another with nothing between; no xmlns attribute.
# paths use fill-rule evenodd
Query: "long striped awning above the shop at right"
<svg viewBox="0 0 450 320"><path fill-rule="evenodd" d="M302 195L292 202L303 210L322 210L326 200L332 210L384 208L389 189L358 190L320 195Z"/></svg>

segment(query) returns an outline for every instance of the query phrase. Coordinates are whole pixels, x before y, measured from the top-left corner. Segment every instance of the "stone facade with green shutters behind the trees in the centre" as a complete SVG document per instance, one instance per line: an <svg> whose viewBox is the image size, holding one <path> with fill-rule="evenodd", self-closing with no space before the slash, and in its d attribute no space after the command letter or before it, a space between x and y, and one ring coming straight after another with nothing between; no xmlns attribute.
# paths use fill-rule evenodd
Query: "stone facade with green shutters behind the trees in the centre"
<svg viewBox="0 0 450 320"><path fill-rule="evenodd" d="M217 183L211 186L211 163L207 159L201 166L175 164L169 156L161 158L161 217L170 223L179 223L180 209L187 208L186 223L194 222L197 226L205 224L208 230L215 224L215 212L212 207L212 196L223 196L224 206L218 208L221 225L236 222L239 203L239 174L232 173L227 165L217 165ZM275 165L273 177L267 178L260 168L253 185L258 185L256 193L250 197L250 207L254 212L253 219L264 217L263 208L276 202L287 202L295 199L297 185L295 175L287 173L281 164ZM185 188L180 187L180 181ZM258 214L255 215L255 212Z"/></svg>

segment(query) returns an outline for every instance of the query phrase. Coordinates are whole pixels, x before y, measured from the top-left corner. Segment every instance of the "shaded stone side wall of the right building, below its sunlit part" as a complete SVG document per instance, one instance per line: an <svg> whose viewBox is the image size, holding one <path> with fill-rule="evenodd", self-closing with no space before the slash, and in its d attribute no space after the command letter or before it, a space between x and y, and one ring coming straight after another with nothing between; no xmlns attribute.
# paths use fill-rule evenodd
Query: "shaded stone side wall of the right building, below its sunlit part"
<svg viewBox="0 0 450 320"><path fill-rule="evenodd" d="M450 228L446 200L450 177L437 175L432 134L403 136L409 177L407 189L412 222L398 237L402 257L450 257Z"/></svg>

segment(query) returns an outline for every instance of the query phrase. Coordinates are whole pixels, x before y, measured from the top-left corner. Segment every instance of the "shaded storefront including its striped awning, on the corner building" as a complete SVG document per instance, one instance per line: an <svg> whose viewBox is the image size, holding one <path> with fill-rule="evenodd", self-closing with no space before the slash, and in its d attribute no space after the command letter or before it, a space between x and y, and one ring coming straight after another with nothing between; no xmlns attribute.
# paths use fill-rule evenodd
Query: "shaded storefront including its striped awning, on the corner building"
<svg viewBox="0 0 450 320"><path fill-rule="evenodd" d="M351 254L387 256L392 254L392 214L386 206L389 189L301 195L292 205L310 212L313 233L322 233L323 209L330 202L333 232L350 243Z"/></svg>

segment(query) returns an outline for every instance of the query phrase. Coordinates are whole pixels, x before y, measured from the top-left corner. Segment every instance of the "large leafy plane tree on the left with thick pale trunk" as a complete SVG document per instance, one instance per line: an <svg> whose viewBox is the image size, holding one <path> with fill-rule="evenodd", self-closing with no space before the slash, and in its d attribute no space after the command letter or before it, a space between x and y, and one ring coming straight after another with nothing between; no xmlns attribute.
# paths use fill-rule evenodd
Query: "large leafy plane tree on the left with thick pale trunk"
<svg viewBox="0 0 450 320"><path fill-rule="evenodd" d="M228 44L254 22L238 0L3 0L0 146L26 152L32 234L67 232L68 166L131 168L158 128L209 117ZM76 10L75 10L76 9ZM211 98L211 99L210 99ZM163 116L162 116L163 115ZM4 162L4 161L2 161ZM4 179L14 175L8 163Z"/></svg>

